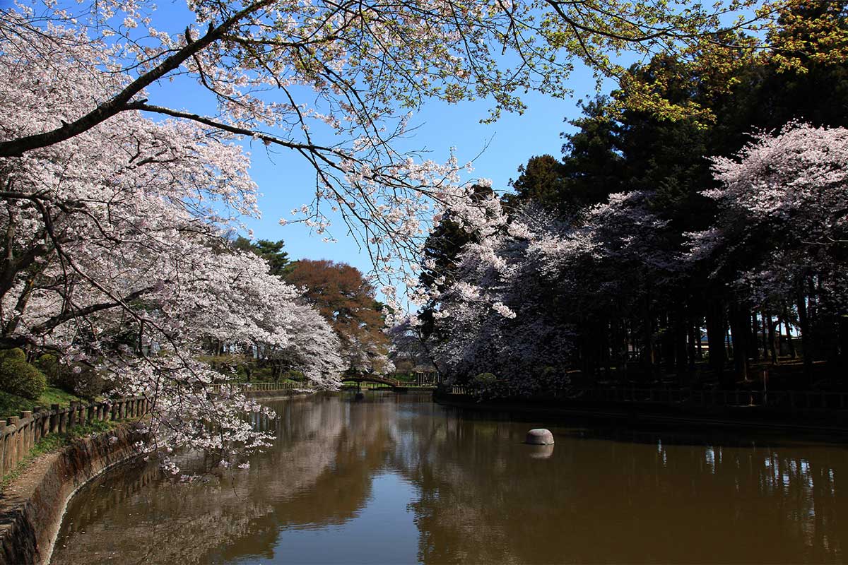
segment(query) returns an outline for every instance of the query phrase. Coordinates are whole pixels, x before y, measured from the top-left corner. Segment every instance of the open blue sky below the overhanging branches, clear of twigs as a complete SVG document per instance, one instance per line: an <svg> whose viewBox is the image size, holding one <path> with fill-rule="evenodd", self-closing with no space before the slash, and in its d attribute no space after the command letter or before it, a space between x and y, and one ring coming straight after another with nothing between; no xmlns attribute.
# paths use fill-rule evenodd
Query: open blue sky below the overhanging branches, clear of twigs
<svg viewBox="0 0 848 565"><path fill-rule="evenodd" d="M488 102L428 102L410 122L419 127L408 145L429 150L428 157L437 162L449 158L450 147L456 148L460 163L479 154L474 171L465 174L464 180L485 177L493 181L496 190L506 190L510 178L516 178L518 166L531 156L550 153L560 157L560 134L570 128L564 119L579 114L578 97L594 96L594 79L588 70L577 70L571 87L575 96L564 100L528 94L524 97L528 106L524 114L504 114L488 125L479 123L487 116ZM302 224L278 224L281 218L291 218L293 208L310 202L315 174L309 163L285 150L269 155L261 143L253 144L252 156L252 176L263 195L259 200L262 219L248 221L255 237L285 240L287 252L295 259L327 258L350 263L364 272L371 269L367 255L359 252L340 224L332 228L336 243L310 235Z"/></svg>

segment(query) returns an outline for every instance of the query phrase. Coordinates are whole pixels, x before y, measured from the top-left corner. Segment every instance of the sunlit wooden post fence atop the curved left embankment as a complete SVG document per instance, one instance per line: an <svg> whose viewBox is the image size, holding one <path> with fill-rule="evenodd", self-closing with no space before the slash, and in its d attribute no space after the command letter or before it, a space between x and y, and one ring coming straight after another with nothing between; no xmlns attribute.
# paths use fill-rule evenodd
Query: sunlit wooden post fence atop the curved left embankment
<svg viewBox="0 0 848 565"><path fill-rule="evenodd" d="M150 401L144 396L120 398L112 402L71 402L70 407L35 407L20 416L0 418L0 477L17 467L32 446L48 434L63 433L75 426L106 420L138 418L148 413Z"/></svg>

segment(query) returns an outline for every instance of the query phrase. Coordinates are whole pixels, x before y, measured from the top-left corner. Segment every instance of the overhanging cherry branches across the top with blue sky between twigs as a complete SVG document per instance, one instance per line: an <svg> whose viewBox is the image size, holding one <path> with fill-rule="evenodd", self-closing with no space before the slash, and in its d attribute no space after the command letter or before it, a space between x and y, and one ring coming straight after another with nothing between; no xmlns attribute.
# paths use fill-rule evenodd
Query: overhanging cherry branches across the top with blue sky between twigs
<svg viewBox="0 0 848 565"><path fill-rule="evenodd" d="M96 97L77 96L71 85L42 91L52 98L45 108L71 97L75 109L42 112L4 132L0 158L21 158L137 111L252 138L296 152L315 170L314 197L304 197L311 202L297 221L332 239L331 218L340 214L375 265L399 265L410 284L432 214L456 208L459 218L474 201L458 184L455 158L434 163L397 149L409 112L434 98L486 98L488 119L522 112L520 93L565 96L572 69L587 64L599 79L618 79L639 108L672 119L702 114L695 103L680 107L641 84L618 55L675 53L695 67L745 64L722 53L756 51L762 33L740 34L771 29L798 2L192 0L169 14L148 0L21 3L0 17L0 36L13 51L24 42L39 56L73 51L80 64L109 74L97 79ZM165 80L194 80L208 96L184 99L188 108L168 106L146 90ZM208 102L215 111L205 109Z"/></svg>

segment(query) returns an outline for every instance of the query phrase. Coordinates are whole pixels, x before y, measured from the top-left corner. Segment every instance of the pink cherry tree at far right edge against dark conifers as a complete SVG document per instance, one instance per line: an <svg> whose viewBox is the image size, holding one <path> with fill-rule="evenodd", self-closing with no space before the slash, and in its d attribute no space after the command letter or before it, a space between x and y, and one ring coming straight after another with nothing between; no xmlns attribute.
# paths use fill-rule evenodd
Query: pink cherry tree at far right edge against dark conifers
<svg viewBox="0 0 848 565"><path fill-rule="evenodd" d="M817 347L848 351L848 130L790 123L713 169L721 186L704 194L718 204L717 222L691 234L690 257L740 301L794 303L811 378Z"/></svg>

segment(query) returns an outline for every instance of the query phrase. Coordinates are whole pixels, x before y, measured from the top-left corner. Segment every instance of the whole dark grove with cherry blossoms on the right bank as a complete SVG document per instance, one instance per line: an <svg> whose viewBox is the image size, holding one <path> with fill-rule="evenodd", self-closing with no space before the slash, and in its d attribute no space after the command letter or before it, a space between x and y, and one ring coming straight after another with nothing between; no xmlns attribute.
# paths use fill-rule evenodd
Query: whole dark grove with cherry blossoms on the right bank
<svg viewBox="0 0 848 565"><path fill-rule="evenodd" d="M518 394L566 385L569 369L730 388L802 349L791 386L844 385L845 18L840 3L796 6L756 64L695 81L666 54L628 69L710 108L709 124L661 119L626 89L584 104L561 160L530 158L499 227L466 237L430 285L423 327L449 374L498 374Z"/></svg>

